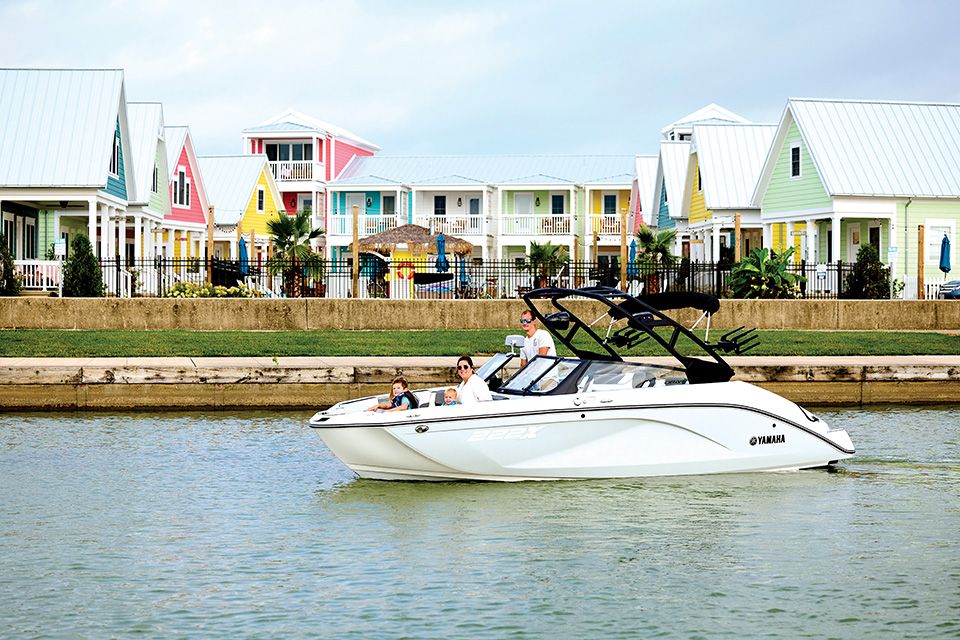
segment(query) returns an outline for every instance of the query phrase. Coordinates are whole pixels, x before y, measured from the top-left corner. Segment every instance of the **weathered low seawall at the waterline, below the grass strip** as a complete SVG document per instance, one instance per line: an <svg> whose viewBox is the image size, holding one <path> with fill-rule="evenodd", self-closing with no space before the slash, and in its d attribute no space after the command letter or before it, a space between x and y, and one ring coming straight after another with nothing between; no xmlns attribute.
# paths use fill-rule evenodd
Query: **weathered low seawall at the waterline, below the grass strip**
<svg viewBox="0 0 960 640"><path fill-rule="evenodd" d="M385 393L401 374L414 388L455 384L454 360L0 358L0 410L313 409ZM735 379L806 405L960 402L960 356L728 361Z"/></svg>

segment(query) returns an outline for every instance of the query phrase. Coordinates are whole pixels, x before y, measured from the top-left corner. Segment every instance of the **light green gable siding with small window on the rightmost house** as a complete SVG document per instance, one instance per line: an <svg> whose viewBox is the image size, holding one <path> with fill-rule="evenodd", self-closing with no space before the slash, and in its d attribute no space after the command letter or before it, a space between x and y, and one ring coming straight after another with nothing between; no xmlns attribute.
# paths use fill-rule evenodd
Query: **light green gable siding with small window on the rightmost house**
<svg viewBox="0 0 960 640"><path fill-rule="evenodd" d="M800 146L800 179L790 178L790 148L793 142ZM824 209L833 206L823 181L810 157L806 142L802 140L797 123L790 125L783 146L780 147L770 184L763 196L763 213L785 213L808 209Z"/></svg>

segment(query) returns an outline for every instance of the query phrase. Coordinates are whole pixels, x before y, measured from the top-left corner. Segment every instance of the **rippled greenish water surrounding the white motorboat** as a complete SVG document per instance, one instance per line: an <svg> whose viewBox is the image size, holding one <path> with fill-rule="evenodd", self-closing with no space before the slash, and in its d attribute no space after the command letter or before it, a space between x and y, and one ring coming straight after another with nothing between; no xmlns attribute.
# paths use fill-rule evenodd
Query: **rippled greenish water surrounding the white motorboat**
<svg viewBox="0 0 960 640"><path fill-rule="evenodd" d="M960 637L960 408L798 473L357 480L305 413L0 414L0 637Z"/></svg>

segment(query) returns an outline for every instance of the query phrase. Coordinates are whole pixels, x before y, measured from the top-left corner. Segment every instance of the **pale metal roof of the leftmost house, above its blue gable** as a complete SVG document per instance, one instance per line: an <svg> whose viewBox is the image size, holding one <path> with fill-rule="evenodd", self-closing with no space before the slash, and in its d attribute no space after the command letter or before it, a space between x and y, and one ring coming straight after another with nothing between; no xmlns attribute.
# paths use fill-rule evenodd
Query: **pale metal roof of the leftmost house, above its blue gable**
<svg viewBox="0 0 960 640"><path fill-rule="evenodd" d="M120 69L0 69L0 186L106 186L123 100Z"/></svg>

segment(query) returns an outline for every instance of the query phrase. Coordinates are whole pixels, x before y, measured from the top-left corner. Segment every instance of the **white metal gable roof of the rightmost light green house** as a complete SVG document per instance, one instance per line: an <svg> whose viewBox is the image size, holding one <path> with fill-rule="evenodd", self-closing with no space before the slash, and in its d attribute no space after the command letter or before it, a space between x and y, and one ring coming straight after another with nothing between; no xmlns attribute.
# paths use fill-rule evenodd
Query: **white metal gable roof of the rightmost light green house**
<svg viewBox="0 0 960 640"><path fill-rule="evenodd" d="M833 197L960 198L960 105L790 98L754 202L794 122Z"/></svg>

